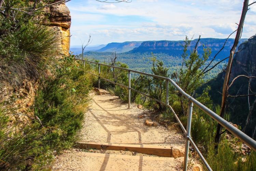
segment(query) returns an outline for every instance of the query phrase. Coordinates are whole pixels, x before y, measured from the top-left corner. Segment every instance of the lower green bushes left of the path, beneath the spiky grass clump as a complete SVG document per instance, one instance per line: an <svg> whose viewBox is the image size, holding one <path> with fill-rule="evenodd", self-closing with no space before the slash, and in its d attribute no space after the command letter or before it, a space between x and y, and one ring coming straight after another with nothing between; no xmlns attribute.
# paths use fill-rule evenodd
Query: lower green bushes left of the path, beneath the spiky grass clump
<svg viewBox="0 0 256 171"><path fill-rule="evenodd" d="M91 86L73 56L65 57L54 75L41 80L31 108L34 115L26 123L10 125L15 109L4 106L0 111L0 170L48 170L54 154L77 140Z"/></svg>

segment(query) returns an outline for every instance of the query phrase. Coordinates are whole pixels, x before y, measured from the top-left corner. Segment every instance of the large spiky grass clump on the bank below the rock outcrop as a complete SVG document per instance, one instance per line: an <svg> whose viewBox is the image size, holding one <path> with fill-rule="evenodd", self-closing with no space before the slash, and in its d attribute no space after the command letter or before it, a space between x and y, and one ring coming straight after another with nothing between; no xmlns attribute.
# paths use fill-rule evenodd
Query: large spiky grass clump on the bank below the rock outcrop
<svg viewBox="0 0 256 171"><path fill-rule="evenodd" d="M6 26L7 25L7 26ZM36 80L56 65L59 37L54 28L27 22L11 31L6 22L0 29L0 81L19 85L24 79Z"/></svg>

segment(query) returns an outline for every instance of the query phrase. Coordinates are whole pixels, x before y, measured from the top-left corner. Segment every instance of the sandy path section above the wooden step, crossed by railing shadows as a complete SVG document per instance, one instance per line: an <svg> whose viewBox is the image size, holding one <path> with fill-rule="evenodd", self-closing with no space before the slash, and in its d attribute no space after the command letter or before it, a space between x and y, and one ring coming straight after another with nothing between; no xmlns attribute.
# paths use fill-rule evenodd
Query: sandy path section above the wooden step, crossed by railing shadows
<svg viewBox="0 0 256 171"><path fill-rule="evenodd" d="M118 97L90 94L92 103L85 115L81 140L124 144L157 144L184 146L181 130L162 125L148 127L146 118L139 119L143 109L131 104L131 109Z"/></svg>

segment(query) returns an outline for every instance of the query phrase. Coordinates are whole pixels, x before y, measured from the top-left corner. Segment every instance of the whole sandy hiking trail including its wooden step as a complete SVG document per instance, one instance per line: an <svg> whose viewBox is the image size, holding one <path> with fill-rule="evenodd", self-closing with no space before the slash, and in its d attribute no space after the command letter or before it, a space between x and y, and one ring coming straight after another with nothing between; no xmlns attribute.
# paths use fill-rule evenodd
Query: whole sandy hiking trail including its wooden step
<svg viewBox="0 0 256 171"><path fill-rule="evenodd" d="M79 148L57 156L53 170L182 170L185 138L178 125L146 126L150 111L137 104L128 109L108 91L98 91L90 93Z"/></svg>

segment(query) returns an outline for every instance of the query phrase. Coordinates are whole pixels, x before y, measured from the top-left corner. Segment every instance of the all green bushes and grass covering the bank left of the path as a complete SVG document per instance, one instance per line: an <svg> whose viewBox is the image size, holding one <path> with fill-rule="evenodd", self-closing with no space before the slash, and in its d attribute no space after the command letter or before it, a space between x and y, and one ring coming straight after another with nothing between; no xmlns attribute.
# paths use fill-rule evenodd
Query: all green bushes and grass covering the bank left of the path
<svg viewBox="0 0 256 171"><path fill-rule="evenodd" d="M9 86L13 94L0 99L0 170L51 170L54 155L71 147L82 127L92 87L88 68L74 56L61 56L55 30L40 24L37 9L52 0L4 2L0 86ZM34 104L20 112L15 102L26 96L16 92L24 81L38 88Z"/></svg>

